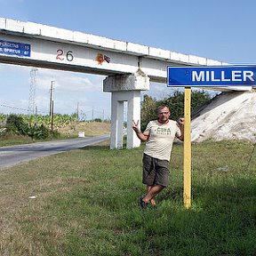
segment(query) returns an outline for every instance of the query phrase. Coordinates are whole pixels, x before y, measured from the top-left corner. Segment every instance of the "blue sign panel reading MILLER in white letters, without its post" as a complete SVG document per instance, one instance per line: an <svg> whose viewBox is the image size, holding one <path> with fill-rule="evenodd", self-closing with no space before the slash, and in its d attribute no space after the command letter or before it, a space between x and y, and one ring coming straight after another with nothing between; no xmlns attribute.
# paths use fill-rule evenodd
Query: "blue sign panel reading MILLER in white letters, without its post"
<svg viewBox="0 0 256 256"><path fill-rule="evenodd" d="M167 67L168 87L218 87L256 84L256 66Z"/></svg>

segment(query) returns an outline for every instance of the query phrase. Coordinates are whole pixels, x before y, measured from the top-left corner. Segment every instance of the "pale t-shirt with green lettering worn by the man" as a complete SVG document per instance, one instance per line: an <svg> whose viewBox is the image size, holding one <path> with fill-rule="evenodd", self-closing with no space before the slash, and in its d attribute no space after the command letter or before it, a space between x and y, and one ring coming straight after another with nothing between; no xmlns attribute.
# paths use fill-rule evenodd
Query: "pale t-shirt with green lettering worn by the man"
<svg viewBox="0 0 256 256"><path fill-rule="evenodd" d="M150 121L143 133L149 135L144 153L157 159L170 161L173 140L175 136L181 135L177 122L170 119L165 124L158 120Z"/></svg>

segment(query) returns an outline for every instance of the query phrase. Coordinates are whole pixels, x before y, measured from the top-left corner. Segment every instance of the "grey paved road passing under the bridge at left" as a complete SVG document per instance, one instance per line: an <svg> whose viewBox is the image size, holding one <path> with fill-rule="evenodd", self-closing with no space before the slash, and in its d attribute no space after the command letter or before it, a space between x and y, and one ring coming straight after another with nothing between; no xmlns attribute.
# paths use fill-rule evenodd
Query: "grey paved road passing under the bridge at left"
<svg viewBox="0 0 256 256"><path fill-rule="evenodd" d="M29 161L40 156L49 156L76 148L83 148L108 139L109 135L101 135L99 137L84 137L71 140L55 140L0 147L0 168L10 167L14 164Z"/></svg>

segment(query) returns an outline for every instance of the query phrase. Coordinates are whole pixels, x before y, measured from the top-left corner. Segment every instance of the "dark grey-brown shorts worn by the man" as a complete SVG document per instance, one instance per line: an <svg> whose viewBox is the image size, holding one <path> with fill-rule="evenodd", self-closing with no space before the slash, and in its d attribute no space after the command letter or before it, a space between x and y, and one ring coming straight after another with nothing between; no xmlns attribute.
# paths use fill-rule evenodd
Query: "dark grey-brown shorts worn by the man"
<svg viewBox="0 0 256 256"><path fill-rule="evenodd" d="M143 155L142 183L152 185L162 185L167 187L169 183L169 161L160 160L146 154Z"/></svg>

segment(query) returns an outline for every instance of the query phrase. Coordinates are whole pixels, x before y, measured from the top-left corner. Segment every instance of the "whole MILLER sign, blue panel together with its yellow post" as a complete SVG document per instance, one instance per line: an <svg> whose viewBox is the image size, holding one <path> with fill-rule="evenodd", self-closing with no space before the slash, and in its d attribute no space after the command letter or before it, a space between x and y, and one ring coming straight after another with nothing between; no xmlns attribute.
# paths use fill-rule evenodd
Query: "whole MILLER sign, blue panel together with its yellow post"
<svg viewBox="0 0 256 256"><path fill-rule="evenodd" d="M185 87L184 99L184 204L191 207L191 87L253 86L256 81L255 65L235 66L168 66L167 86Z"/></svg>

